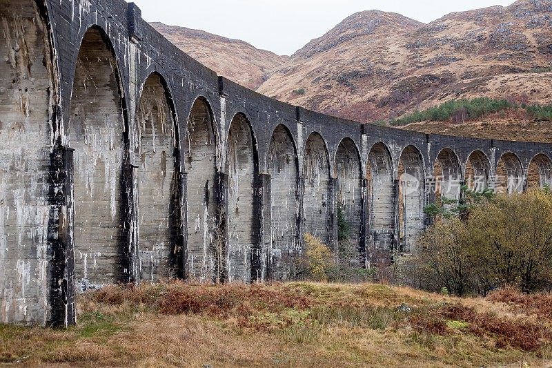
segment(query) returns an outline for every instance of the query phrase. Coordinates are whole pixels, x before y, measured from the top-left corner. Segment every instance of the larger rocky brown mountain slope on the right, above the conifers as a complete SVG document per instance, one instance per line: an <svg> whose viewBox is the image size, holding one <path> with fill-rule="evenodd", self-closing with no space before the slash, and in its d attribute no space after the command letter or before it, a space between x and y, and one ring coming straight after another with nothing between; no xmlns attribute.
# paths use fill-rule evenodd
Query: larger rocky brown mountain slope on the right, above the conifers
<svg viewBox="0 0 552 368"><path fill-rule="evenodd" d="M479 96L552 100L552 0L520 0L427 25L359 12L308 43L258 91L360 122Z"/></svg>

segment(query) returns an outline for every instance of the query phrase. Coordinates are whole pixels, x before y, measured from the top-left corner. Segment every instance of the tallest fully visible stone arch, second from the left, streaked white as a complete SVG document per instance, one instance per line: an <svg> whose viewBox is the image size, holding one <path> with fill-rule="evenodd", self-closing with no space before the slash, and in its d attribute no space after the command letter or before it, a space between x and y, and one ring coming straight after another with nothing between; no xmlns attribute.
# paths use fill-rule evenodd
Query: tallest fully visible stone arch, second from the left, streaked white
<svg viewBox="0 0 552 368"><path fill-rule="evenodd" d="M69 124L75 281L81 290L130 278L125 110L112 45L101 28L89 28L77 57Z"/></svg>

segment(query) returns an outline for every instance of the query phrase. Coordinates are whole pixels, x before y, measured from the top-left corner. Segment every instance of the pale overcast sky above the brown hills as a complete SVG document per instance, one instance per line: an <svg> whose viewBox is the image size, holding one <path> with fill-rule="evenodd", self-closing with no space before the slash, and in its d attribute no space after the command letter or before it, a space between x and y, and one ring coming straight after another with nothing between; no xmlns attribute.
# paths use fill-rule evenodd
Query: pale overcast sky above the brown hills
<svg viewBox="0 0 552 368"><path fill-rule="evenodd" d="M398 12L429 23L449 12L507 6L513 0L134 0L146 21L161 21L242 39L291 55L349 15L362 10Z"/></svg>

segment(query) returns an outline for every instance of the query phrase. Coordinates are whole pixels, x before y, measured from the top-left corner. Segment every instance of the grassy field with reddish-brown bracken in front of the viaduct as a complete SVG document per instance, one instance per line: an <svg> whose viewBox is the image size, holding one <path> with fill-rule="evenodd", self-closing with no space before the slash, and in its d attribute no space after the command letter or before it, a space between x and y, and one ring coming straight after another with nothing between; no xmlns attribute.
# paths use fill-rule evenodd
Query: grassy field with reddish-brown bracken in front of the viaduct
<svg viewBox="0 0 552 368"><path fill-rule="evenodd" d="M79 296L68 330L0 325L0 363L139 367L552 366L552 296L382 284L170 283Z"/></svg>

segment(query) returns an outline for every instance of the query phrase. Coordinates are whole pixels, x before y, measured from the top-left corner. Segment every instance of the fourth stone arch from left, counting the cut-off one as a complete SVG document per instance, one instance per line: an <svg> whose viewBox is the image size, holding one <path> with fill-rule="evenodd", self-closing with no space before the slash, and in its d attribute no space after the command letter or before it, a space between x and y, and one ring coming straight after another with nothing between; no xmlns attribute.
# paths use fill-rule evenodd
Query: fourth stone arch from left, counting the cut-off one
<svg viewBox="0 0 552 368"><path fill-rule="evenodd" d="M188 278L219 280L224 262L224 238L218 229L219 177L217 138L210 104L198 97L190 110L184 136Z"/></svg>

